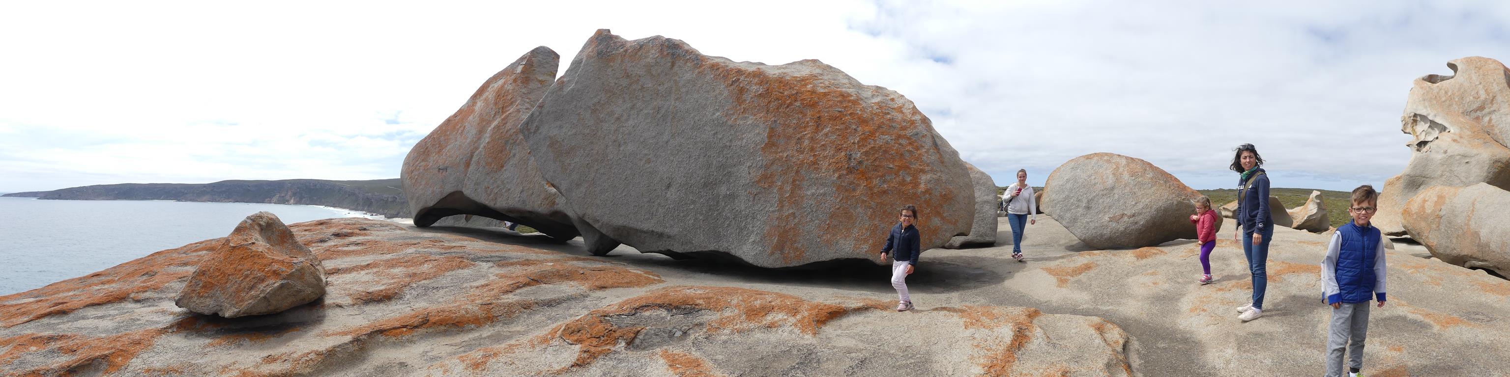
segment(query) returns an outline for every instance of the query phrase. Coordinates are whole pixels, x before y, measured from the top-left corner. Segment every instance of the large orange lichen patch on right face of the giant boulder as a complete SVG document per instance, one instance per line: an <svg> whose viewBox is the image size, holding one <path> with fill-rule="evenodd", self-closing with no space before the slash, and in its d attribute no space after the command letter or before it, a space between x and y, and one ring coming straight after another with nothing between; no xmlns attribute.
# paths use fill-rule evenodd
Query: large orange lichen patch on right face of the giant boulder
<svg viewBox="0 0 1510 377"><path fill-rule="evenodd" d="M755 68L705 56L698 59L704 74L723 81L731 92L734 106L722 113L731 124L769 125L766 142L760 146L764 167L755 169L752 178L776 196L776 208L767 211L773 226L766 229L764 237L770 241L772 255L793 264L808 256L808 240L821 240L830 247L841 247L837 240L880 241L886 229L874 226L874 219L895 213L900 204L914 204L921 211L918 223L926 247L942 244L953 232L968 229L962 222L971 219L974 202L969 172L963 164L950 166L948 160L938 161L930 154L924 154L927 158L891 158L897 145L929 152L947 148L939 145L942 140L927 140L933 139L929 137L932 124L911 101L900 95L886 98L885 93L868 98L865 93L870 90L888 90L832 80L821 74L832 68L815 60ZM793 69L806 66L814 72L793 74ZM953 173L965 178L963 182L950 187L926 181L926 176L950 175L936 172L941 166L932 166L932 161L945 169L957 167ZM827 196L809 196L820 187L832 188L832 198L843 205L834 205ZM803 213L815 205L829 211L823 222L791 220L811 219ZM965 216L942 216L951 211Z"/></svg>

